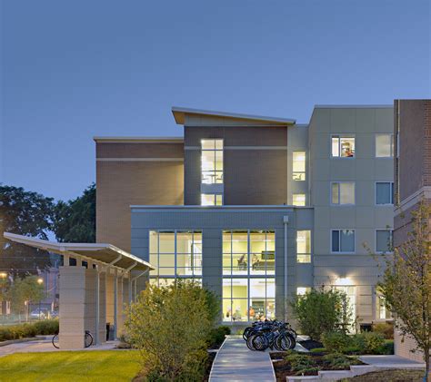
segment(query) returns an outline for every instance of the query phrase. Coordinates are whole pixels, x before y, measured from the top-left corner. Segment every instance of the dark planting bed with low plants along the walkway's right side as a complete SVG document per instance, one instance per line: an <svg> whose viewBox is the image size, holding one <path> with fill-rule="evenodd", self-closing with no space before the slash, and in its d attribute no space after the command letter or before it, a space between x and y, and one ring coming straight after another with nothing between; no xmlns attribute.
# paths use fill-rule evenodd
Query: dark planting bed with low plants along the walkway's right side
<svg viewBox="0 0 431 382"><path fill-rule="evenodd" d="M277 381L292 376L317 376L320 370L348 370L351 365L365 365L356 357L342 354L272 352Z"/></svg>

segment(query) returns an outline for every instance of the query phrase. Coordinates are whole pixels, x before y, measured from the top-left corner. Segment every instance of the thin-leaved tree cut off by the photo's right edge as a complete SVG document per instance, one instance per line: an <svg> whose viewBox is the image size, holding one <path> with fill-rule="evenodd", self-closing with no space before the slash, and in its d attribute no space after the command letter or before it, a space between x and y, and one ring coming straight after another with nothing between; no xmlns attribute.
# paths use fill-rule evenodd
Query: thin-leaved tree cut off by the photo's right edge
<svg viewBox="0 0 431 382"><path fill-rule="evenodd" d="M388 309L396 314L403 337L416 341L424 354L426 381L430 376L431 348L431 207L420 201L411 212L411 230L406 241L386 259L386 270L379 283Z"/></svg>

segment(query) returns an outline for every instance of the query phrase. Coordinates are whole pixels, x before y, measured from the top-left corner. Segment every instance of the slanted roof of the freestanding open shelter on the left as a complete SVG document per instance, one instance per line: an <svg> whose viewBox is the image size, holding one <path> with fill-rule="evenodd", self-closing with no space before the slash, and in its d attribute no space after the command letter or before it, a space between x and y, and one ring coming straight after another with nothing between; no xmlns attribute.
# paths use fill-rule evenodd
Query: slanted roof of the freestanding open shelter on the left
<svg viewBox="0 0 431 382"><path fill-rule="evenodd" d="M125 250L120 250L112 244L105 243L60 243L56 241L42 240L28 236L5 232L5 239L25 244L40 250L47 250L59 255L79 257L82 260L94 260L104 265L114 266L120 269L151 270L154 267Z"/></svg>

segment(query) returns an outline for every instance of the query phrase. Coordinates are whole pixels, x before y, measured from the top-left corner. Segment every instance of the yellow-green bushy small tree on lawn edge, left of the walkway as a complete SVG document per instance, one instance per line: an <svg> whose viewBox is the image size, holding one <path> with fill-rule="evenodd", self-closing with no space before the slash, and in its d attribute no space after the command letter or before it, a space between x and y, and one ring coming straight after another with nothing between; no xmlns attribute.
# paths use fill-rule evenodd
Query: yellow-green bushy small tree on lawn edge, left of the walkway
<svg viewBox="0 0 431 382"><path fill-rule="evenodd" d="M208 294L194 281L147 285L127 311L125 335L139 348L148 380L202 380L213 328Z"/></svg>

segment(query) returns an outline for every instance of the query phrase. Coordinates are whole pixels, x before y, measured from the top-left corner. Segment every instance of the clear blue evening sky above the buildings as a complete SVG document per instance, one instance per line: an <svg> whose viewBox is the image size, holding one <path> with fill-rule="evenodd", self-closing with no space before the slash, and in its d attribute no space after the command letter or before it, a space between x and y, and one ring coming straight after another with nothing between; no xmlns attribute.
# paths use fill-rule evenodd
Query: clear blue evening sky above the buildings
<svg viewBox="0 0 431 382"><path fill-rule="evenodd" d="M428 0L0 6L0 181L55 199L95 181L93 136L182 135L172 105L308 122L431 97Z"/></svg>

